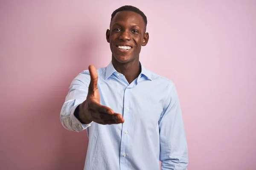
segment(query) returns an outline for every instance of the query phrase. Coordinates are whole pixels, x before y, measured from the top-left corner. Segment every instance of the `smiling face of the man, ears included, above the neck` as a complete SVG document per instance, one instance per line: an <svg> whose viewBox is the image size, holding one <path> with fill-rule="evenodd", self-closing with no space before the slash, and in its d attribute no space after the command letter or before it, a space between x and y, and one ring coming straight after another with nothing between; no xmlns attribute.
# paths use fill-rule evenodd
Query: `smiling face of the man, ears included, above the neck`
<svg viewBox="0 0 256 170"><path fill-rule="evenodd" d="M113 17L106 32L112 59L120 63L139 59L141 46L148 43L143 17L133 11L120 11Z"/></svg>

